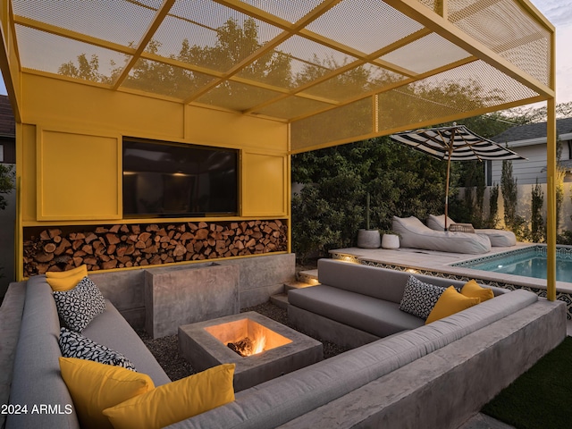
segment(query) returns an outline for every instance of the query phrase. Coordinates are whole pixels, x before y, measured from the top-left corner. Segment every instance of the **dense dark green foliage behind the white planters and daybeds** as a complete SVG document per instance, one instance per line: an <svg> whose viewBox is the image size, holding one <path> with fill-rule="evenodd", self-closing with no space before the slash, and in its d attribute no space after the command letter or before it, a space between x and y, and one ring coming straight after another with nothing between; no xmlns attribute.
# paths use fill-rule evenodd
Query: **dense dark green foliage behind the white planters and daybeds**
<svg viewBox="0 0 572 429"><path fill-rule="evenodd" d="M381 230L391 230L393 215L442 213L446 168L387 137L292 156L292 181L304 184L292 200L295 252L325 256L352 246L366 225L367 192L372 227Z"/></svg>

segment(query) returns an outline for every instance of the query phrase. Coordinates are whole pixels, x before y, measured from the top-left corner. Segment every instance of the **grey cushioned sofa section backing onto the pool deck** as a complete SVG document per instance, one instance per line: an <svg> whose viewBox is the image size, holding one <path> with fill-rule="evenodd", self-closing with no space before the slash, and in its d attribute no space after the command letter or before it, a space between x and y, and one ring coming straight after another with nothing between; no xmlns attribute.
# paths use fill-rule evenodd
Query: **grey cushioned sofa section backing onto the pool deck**
<svg viewBox="0 0 572 429"><path fill-rule="evenodd" d="M289 322L323 340L352 348L416 329L425 324L425 319L400 310L400 301L411 275L403 271L320 259L320 284L290 290L288 294ZM465 284L414 275L420 281L436 286L461 288ZM501 288L490 289L495 295L509 292Z"/></svg>

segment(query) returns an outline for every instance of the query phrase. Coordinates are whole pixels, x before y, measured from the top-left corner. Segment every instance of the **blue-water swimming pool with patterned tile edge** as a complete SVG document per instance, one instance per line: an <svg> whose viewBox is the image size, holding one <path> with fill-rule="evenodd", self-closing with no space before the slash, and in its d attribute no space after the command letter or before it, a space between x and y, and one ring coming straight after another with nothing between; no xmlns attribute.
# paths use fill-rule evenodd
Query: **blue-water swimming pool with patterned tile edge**
<svg viewBox="0 0 572 429"><path fill-rule="evenodd" d="M451 266L546 279L546 246L519 248L489 257L458 262ZM572 282L572 247L570 246L556 247L556 280Z"/></svg>

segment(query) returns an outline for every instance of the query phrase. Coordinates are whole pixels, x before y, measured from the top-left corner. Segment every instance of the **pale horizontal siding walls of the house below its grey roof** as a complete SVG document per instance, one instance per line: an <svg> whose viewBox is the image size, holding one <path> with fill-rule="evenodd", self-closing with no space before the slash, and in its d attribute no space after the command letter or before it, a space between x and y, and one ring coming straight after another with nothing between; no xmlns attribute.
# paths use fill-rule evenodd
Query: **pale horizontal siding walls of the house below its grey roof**
<svg viewBox="0 0 572 429"><path fill-rule="evenodd" d="M534 185L546 183L546 143L522 147L511 147L518 155L526 159L512 160L512 176L517 179L518 185ZM568 142L562 144L562 160L570 159ZM492 184L501 183L502 161L492 161ZM567 174L565 181L571 181Z"/></svg>

